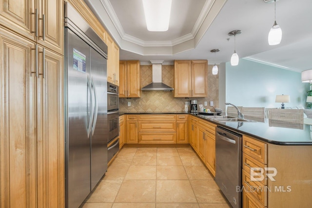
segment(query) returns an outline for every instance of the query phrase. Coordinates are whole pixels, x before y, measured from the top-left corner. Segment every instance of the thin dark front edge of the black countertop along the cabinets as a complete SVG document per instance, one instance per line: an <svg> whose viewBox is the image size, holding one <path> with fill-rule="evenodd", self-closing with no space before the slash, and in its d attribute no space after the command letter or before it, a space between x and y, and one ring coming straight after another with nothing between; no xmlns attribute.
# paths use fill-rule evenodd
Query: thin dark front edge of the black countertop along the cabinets
<svg viewBox="0 0 312 208"><path fill-rule="evenodd" d="M190 114L190 115L196 116L197 118L200 118L200 119L209 121L211 123L214 123L215 125L222 126L222 127L226 128L226 129L229 129L231 131L239 132L239 133L242 133L242 134L245 134L245 135L248 135L248 136L252 136L252 137L254 137L254 138L258 139L258 140L261 140L261 141L264 141L264 142L267 142L267 143L270 143L270 144L273 144L273 145L282 145L282 146L312 146L311 142L281 142L281 141L274 141L274 140L266 139L266 138L254 135L252 133L249 133L249 132L244 132L244 131L241 131L239 129L234 129L234 128L229 127L229 126L227 126L227 125L225 125L223 123L219 123L219 122L207 119L207 118L203 118L203 117L197 116L194 113L185 113L185 112L119 112L119 115L123 115L123 114Z"/></svg>

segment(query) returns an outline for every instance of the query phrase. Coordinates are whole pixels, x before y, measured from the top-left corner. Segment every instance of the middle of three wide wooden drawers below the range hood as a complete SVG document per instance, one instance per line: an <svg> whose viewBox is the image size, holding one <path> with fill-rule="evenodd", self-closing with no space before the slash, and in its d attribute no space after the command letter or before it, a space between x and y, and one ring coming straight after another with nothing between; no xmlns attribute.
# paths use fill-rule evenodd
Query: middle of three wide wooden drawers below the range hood
<svg viewBox="0 0 312 208"><path fill-rule="evenodd" d="M139 132L176 132L176 122L138 122Z"/></svg>

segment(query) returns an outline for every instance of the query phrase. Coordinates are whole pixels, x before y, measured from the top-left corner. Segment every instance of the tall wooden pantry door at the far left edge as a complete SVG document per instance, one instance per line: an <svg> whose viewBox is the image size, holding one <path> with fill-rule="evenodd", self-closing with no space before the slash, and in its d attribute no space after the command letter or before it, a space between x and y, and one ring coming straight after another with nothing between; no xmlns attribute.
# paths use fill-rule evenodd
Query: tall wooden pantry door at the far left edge
<svg viewBox="0 0 312 208"><path fill-rule="evenodd" d="M37 78L35 74L31 74L31 70L35 68L33 48L35 48L34 42L0 27L2 57L0 64L0 207L2 208L36 207L35 82Z"/></svg>

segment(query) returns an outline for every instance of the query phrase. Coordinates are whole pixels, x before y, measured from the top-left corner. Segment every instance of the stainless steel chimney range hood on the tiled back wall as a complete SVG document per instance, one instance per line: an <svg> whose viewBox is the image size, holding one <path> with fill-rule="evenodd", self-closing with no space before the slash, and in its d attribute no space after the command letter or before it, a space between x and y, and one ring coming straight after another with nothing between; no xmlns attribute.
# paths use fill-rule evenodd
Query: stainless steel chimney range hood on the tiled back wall
<svg viewBox="0 0 312 208"><path fill-rule="evenodd" d="M161 82L161 64L163 61L151 61L152 63L152 83L141 88L143 91L151 91L151 90L162 90L162 91L172 91L174 90L172 87Z"/></svg>

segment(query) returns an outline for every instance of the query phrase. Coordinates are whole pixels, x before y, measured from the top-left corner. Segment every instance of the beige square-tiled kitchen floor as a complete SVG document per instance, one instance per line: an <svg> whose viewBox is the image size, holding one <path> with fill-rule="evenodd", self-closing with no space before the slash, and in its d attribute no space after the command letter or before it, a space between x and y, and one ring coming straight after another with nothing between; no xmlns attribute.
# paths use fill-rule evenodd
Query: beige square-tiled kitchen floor
<svg viewBox="0 0 312 208"><path fill-rule="evenodd" d="M123 148L83 208L230 208L192 148Z"/></svg>

